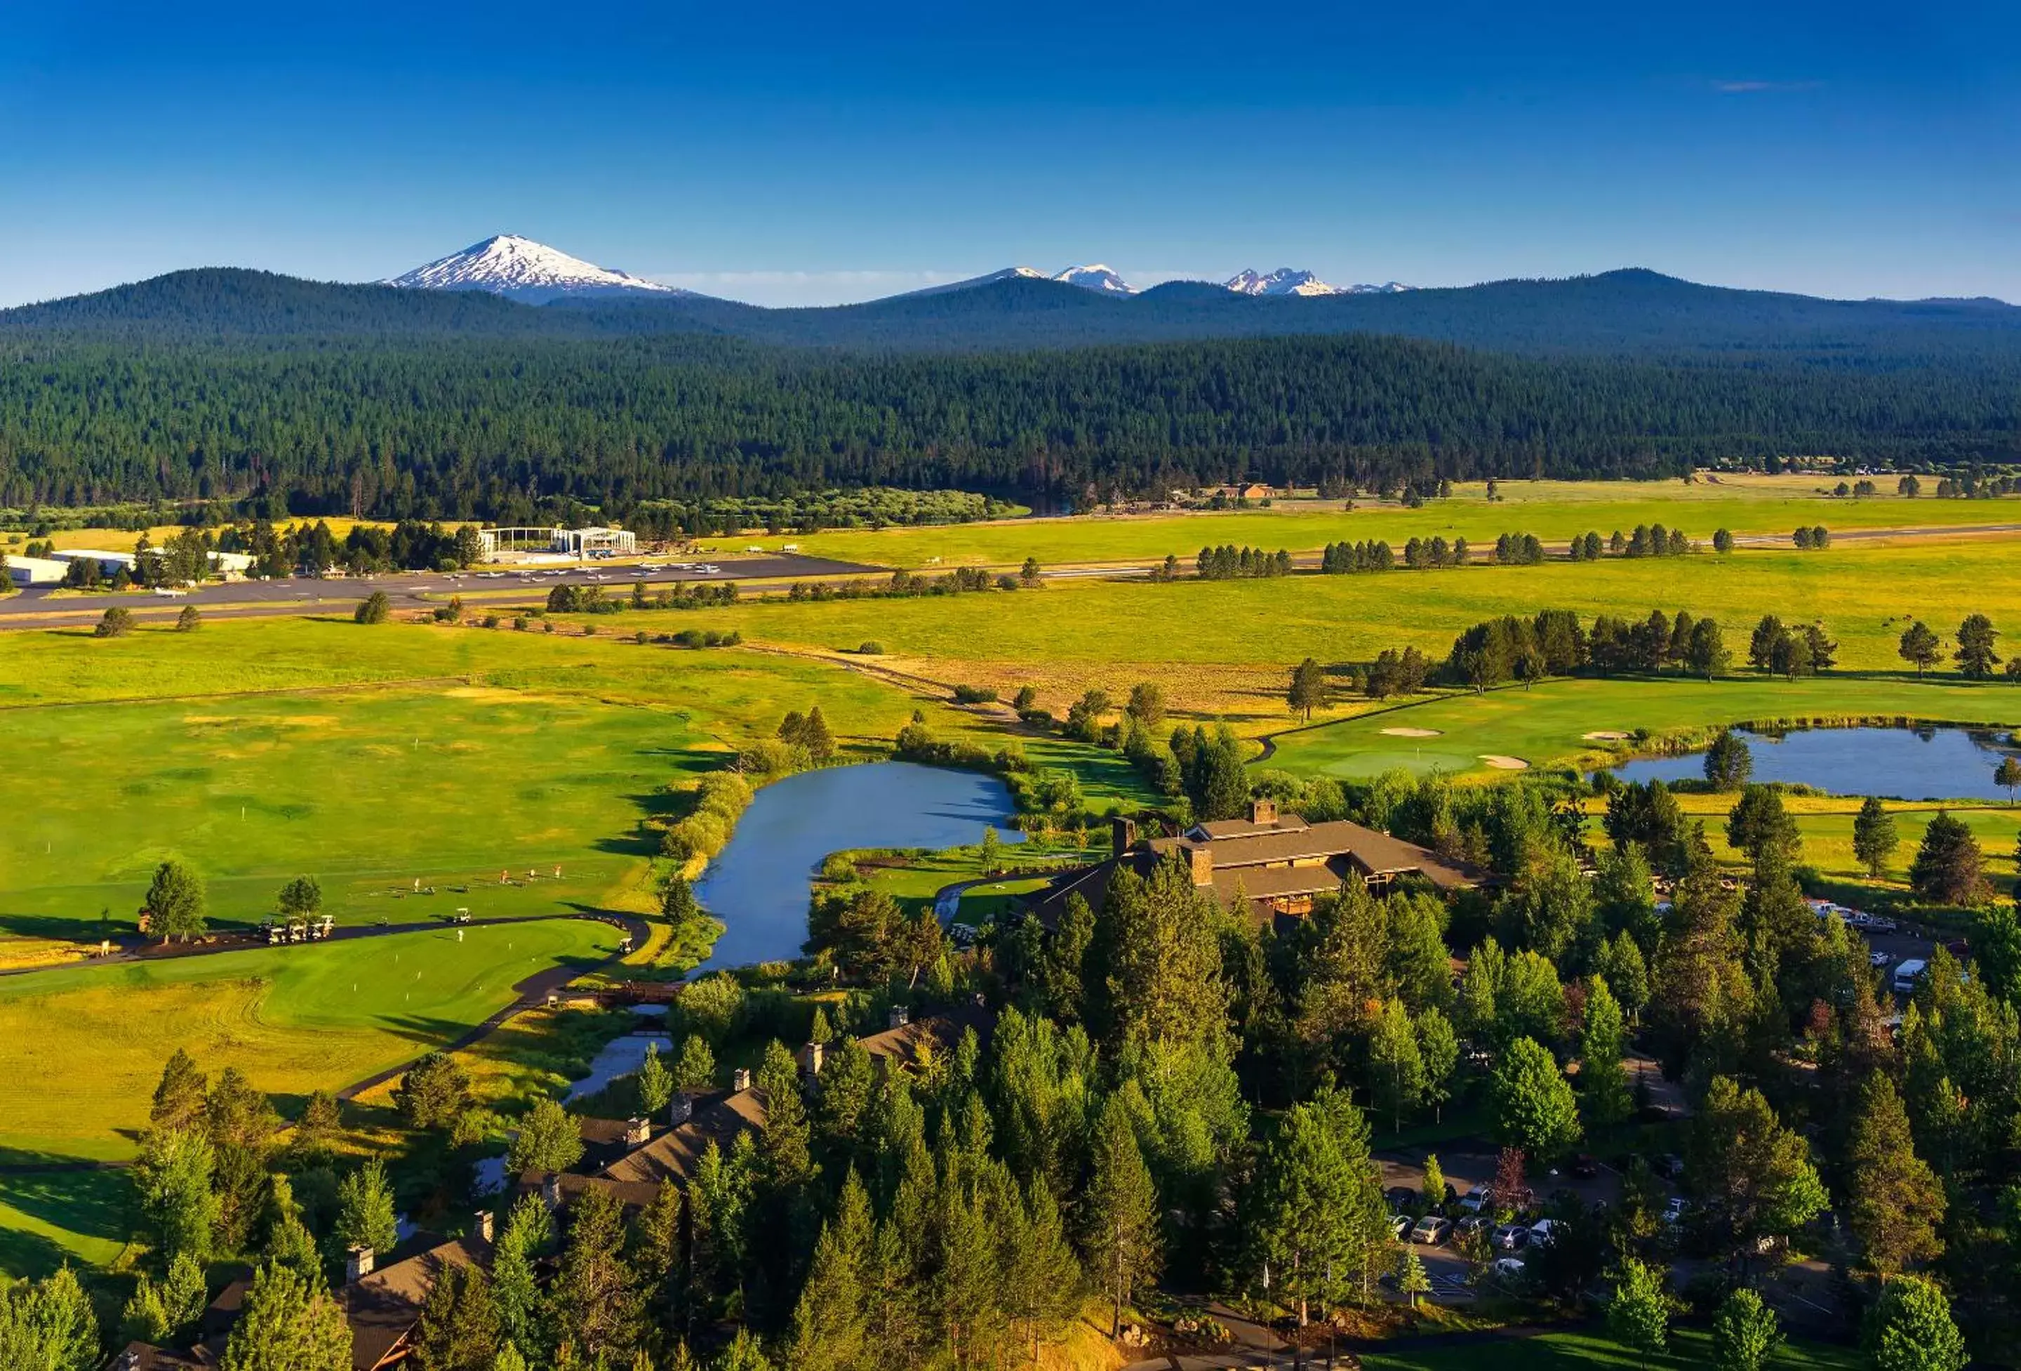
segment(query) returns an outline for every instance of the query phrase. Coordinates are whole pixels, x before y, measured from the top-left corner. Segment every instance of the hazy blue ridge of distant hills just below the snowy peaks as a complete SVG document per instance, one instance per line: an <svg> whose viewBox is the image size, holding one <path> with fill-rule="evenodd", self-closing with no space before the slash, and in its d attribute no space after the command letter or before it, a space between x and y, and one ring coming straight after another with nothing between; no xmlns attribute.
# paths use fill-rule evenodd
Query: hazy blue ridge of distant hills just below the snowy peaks
<svg viewBox="0 0 2021 1371"><path fill-rule="evenodd" d="M760 309L687 295L521 305L475 291L325 285L202 269L0 311L0 338L152 342L707 334L776 346L916 352L1356 332L1546 356L1748 354L1884 364L2021 354L2021 309L1999 301L1835 301L1694 285L1653 271L1326 297L1237 295L1200 283L1116 297L1057 281L1006 279L863 305Z"/></svg>

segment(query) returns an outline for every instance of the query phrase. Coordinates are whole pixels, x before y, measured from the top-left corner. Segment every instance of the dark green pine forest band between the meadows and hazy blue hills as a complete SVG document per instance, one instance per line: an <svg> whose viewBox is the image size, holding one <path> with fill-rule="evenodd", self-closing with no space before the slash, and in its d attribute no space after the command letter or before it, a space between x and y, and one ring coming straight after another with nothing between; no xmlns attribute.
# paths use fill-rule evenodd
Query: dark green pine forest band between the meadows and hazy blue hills
<svg viewBox="0 0 2021 1371"><path fill-rule="evenodd" d="M392 307L412 322L435 299L519 319L471 295ZM1079 495L2021 457L2021 362L2001 354L1730 366L1344 336L932 356L360 332L380 336L0 334L0 504L261 493L273 512L519 520L572 497L622 518L835 483Z"/></svg>

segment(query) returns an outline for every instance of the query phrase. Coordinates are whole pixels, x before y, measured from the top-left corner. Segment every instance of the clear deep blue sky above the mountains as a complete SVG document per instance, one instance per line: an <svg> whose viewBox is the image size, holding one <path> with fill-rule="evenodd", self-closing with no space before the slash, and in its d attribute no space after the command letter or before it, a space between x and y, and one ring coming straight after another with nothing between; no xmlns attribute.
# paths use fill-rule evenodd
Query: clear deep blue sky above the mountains
<svg viewBox="0 0 2021 1371"><path fill-rule="evenodd" d="M2021 299L2013 4L6 10L0 303L491 233L762 303L1085 261Z"/></svg>

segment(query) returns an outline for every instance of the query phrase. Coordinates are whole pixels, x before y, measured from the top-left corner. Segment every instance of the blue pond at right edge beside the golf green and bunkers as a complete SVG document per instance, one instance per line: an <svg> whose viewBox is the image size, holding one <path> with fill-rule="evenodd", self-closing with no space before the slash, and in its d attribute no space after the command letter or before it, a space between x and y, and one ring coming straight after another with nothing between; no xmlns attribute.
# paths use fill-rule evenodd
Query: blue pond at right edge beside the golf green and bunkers
<svg viewBox="0 0 2021 1371"><path fill-rule="evenodd" d="M1752 781L1789 781L1831 795L2005 801L1993 768L2015 756L2009 730L1987 728L1803 728L1740 732L1754 754ZM1615 768L1623 781L1704 779L1704 752L1651 756Z"/></svg>

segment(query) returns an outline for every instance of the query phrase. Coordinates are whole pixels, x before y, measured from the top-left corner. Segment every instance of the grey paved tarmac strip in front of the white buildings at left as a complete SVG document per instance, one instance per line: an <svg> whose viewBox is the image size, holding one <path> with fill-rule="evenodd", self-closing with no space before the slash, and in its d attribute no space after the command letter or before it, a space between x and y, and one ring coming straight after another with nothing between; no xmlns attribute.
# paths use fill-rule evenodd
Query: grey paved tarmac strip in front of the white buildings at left
<svg viewBox="0 0 2021 1371"><path fill-rule="evenodd" d="M206 607L214 613L279 613L299 615L323 609L350 611L352 605L374 590L384 590L396 605L412 601L418 607L426 597L477 595L485 590L519 590L542 599L554 586L600 584L610 595L627 595L633 582L649 586L669 586L675 582L726 582L726 580L796 580L802 576L875 576L879 566L859 562L833 562L819 556L748 556L738 560L715 560L697 556L691 566L671 566L673 558L653 558L653 564L612 564L590 562L568 568L530 570L469 570L469 572L388 572L384 576L329 578L291 576L287 580L230 580L192 586L186 595L154 595L152 590L133 595L53 595L55 586L32 586L16 597L0 601L0 627L42 627L51 621L97 621L107 609L119 605L131 611L156 611L164 615L182 613L184 605ZM715 566L713 572L695 566Z"/></svg>

